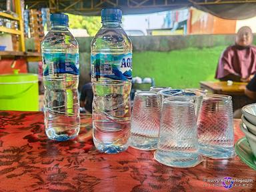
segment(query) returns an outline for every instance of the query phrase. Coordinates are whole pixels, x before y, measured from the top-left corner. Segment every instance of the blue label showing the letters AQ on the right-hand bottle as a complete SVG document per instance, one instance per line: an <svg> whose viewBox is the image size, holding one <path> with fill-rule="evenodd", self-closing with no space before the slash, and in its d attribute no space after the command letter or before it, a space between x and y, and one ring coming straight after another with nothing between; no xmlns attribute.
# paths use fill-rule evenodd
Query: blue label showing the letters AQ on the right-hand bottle
<svg viewBox="0 0 256 192"><path fill-rule="evenodd" d="M132 79L132 54L111 55L91 54L91 77L98 80L101 77L115 80Z"/></svg>

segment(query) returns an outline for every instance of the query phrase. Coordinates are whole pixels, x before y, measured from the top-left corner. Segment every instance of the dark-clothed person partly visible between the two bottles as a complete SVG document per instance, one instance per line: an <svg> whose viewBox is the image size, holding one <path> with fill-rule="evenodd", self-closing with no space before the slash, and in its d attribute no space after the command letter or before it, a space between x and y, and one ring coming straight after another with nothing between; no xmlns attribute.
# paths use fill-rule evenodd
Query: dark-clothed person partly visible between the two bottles
<svg viewBox="0 0 256 192"><path fill-rule="evenodd" d="M93 103L93 89L91 87L91 82L85 83L82 87L80 96L80 107L85 109L85 113L92 113L92 103Z"/></svg>

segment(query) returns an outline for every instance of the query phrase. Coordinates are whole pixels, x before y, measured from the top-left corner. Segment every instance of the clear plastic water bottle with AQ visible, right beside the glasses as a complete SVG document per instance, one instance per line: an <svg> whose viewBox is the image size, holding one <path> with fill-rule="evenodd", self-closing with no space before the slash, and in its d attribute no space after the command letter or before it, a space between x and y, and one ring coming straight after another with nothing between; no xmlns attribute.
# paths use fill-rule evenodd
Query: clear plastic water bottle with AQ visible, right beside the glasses
<svg viewBox="0 0 256 192"><path fill-rule="evenodd" d="M121 27L120 9L103 9L103 26L91 41L93 141L103 153L129 146L132 45Z"/></svg>

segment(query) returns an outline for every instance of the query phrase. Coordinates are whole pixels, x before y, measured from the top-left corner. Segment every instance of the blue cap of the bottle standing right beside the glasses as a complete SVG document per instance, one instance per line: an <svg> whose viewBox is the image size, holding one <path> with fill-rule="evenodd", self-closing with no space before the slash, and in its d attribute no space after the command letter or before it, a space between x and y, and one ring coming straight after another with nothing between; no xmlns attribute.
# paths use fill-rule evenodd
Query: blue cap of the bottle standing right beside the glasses
<svg viewBox="0 0 256 192"><path fill-rule="evenodd" d="M101 10L101 21L121 21L121 9L105 8Z"/></svg>

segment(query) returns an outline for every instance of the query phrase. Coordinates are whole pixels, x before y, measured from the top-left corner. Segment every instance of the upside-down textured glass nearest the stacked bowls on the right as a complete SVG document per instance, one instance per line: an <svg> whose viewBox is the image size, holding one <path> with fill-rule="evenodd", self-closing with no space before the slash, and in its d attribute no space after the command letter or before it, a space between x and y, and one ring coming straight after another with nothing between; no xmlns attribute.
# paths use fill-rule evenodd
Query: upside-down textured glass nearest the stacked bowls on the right
<svg viewBox="0 0 256 192"><path fill-rule="evenodd" d="M232 97L207 94L197 121L199 153L213 159L235 155Z"/></svg>

